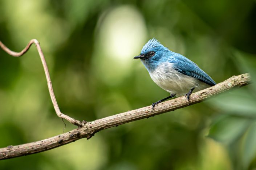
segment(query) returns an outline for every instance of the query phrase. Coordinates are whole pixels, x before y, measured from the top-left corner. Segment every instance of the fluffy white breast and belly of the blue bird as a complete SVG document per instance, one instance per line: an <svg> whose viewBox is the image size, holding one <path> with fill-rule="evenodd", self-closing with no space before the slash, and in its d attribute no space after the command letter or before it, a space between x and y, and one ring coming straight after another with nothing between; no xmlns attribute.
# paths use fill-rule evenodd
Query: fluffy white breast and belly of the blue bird
<svg viewBox="0 0 256 170"><path fill-rule="evenodd" d="M193 92L210 87L210 85L194 77L176 71L173 66L173 63L166 62L158 66L154 71L149 71L152 80L167 92L180 97L194 87L195 90Z"/></svg>

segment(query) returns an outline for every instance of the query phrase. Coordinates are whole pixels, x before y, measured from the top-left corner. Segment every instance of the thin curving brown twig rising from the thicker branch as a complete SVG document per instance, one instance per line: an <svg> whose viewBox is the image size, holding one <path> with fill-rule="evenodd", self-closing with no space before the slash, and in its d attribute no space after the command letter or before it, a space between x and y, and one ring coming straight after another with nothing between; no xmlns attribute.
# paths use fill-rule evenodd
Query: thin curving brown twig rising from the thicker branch
<svg viewBox="0 0 256 170"><path fill-rule="evenodd" d="M52 88L52 81L50 79L50 74L49 74L49 70L48 70L48 67L47 67L47 64L46 64L46 61L45 61L45 57L44 57L44 54L42 52L42 49L40 47L40 44L39 42L36 40L36 39L32 39L28 45L21 51L21 52L14 52L14 51L11 51L9 48L7 48L1 41L0 41L0 46L1 48L7 52L9 55L12 55L14 57L20 57L22 56L23 54L25 54L28 49L30 48L30 46L32 44L35 44L36 45L36 48L37 48L37 51L40 55L40 58L41 58L41 61L42 61L42 65L44 67L44 72L45 72L45 77L46 77L46 80L47 80L47 85L48 85L48 89L49 89L49 93L50 93L50 97L52 99L52 104L53 104L53 107L54 107L54 110L56 112L56 114L62 118L62 119L66 119L68 120L70 123L78 126L78 127L81 127L82 125L84 125L84 121L81 122L79 120L76 120L76 119L73 119L73 118L70 118L68 115L65 115L63 113L61 113L60 111L60 108L58 106L58 103L56 101L56 98L55 98L55 95L53 93L53 88Z"/></svg>

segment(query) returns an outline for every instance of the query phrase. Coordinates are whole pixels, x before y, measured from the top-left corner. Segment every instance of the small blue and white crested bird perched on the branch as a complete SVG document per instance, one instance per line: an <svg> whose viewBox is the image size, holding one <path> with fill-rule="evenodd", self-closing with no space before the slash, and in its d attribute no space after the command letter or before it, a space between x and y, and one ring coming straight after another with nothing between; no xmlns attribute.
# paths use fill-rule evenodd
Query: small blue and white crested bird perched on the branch
<svg viewBox="0 0 256 170"><path fill-rule="evenodd" d="M141 59L151 79L170 96L152 104L155 106L173 97L185 96L190 102L193 92L216 85L202 69L193 61L181 54L170 51L157 39L150 39L142 48L140 55L134 59Z"/></svg>

